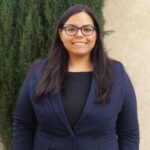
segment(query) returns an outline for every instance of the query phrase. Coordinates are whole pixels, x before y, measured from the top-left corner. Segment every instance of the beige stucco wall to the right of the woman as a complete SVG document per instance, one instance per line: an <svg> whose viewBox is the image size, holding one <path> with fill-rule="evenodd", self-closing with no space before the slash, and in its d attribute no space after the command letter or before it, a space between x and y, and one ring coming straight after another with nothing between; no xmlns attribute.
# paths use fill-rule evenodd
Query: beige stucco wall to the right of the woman
<svg viewBox="0 0 150 150"><path fill-rule="evenodd" d="M108 54L120 60L135 87L140 150L150 149L150 0L105 0Z"/></svg>

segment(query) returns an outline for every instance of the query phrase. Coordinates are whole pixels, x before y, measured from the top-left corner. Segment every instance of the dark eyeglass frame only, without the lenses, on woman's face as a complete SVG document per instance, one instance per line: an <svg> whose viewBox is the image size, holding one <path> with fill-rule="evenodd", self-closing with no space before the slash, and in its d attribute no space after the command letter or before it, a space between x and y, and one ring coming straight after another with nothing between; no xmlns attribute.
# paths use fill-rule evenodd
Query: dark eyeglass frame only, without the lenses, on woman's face
<svg viewBox="0 0 150 150"><path fill-rule="evenodd" d="M68 28L68 27L76 27L76 29L77 29L76 33L75 33L75 34L72 34L72 35L67 34L66 28ZM92 29L93 29L92 33L89 34L89 35L85 35L84 32L82 31L84 27L92 27ZM68 36L75 36L75 35L77 35L77 33L78 33L79 30L81 31L82 35L84 35L84 36L90 36L90 35L92 35L92 34L94 33L94 31L96 30L96 28L95 28L94 26L90 25L90 24L83 25L83 26L81 26L81 27L78 27L78 26L73 25L73 24L69 24L69 25L67 25L67 26L62 27L61 30L65 30L65 33L66 33Z"/></svg>

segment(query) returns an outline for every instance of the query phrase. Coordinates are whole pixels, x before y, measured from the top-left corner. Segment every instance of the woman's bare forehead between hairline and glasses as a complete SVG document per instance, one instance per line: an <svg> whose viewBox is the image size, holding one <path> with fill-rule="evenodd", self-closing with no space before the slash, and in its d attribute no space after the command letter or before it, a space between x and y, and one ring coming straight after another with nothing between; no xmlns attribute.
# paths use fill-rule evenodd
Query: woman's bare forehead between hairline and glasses
<svg viewBox="0 0 150 150"><path fill-rule="evenodd" d="M94 23L93 23L91 16L89 16L89 14L87 14L86 12L79 12L70 16L64 25L67 25L67 24L83 26L85 24L93 25Z"/></svg>

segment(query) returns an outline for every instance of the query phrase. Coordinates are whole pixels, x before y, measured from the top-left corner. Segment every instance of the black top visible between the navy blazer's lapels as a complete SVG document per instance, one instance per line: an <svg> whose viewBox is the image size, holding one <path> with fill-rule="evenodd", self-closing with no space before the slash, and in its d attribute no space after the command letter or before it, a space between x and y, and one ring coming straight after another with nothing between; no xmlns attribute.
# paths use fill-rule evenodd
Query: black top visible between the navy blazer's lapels
<svg viewBox="0 0 150 150"><path fill-rule="evenodd" d="M92 81L92 72L69 72L61 93L64 111L73 127L84 108Z"/></svg>

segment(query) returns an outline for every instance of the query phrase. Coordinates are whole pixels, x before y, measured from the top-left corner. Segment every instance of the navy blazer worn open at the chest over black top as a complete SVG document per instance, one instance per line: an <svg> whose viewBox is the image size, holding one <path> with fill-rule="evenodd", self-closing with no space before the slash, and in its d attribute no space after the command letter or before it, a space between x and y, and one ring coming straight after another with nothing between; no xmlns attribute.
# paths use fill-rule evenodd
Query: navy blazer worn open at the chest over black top
<svg viewBox="0 0 150 150"><path fill-rule="evenodd" d="M139 150L139 126L133 86L120 63L111 65L110 103L96 104L92 80L85 107L71 128L61 93L36 101L42 64L28 73L13 120L13 150Z"/></svg>

